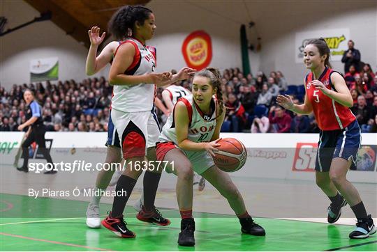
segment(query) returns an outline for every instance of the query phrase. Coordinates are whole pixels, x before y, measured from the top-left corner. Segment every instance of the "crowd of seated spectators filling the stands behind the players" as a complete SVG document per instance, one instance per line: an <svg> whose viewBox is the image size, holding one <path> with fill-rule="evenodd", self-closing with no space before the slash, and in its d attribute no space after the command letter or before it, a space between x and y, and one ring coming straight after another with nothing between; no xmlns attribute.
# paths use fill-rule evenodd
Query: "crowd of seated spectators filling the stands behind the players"
<svg viewBox="0 0 377 252"><path fill-rule="evenodd" d="M350 65L345 79L354 100L351 108L362 132L377 132L377 73L365 64L357 72ZM226 120L223 132L319 132L313 115L297 115L276 105L279 93L288 93L293 102L303 102L304 87L288 85L280 71L263 72L246 76L239 68L223 70L223 100ZM182 81L189 88L189 81ZM88 78L81 83L74 80L52 84L14 84L10 90L0 87L0 130L17 131L25 121L23 91L34 91L36 100L43 106L43 120L48 131L55 132L106 132L110 116L112 86L105 80ZM157 97L161 99L162 88ZM162 100L162 99L161 99ZM157 109L158 118L165 123L165 115Z"/></svg>

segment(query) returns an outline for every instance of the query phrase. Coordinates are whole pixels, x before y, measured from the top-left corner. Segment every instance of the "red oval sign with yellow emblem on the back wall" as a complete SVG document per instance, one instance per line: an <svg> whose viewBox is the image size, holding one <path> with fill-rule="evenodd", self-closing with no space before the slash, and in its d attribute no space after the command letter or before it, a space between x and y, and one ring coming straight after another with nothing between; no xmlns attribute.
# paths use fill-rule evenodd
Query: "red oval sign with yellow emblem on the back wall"
<svg viewBox="0 0 377 252"><path fill-rule="evenodd" d="M182 54L189 68L207 68L212 60L211 37L205 31L193 31L184 40Z"/></svg>

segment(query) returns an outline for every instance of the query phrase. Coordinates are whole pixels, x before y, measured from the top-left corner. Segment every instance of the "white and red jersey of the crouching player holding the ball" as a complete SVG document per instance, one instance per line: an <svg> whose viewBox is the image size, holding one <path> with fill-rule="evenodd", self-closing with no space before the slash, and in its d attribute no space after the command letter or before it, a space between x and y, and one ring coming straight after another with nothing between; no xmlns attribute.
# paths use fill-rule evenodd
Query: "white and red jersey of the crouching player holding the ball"
<svg viewBox="0 0 377 252"><path fill-rule="evenodd" d="M211 107L212 113L211 116L205 115L195 104L193 100L193 95L187 95L186 97L182 97L179 101L184 102L186 104L189 124L188 124L188 136L187 139L196 143L199 142L209 142L214 135L214 130L216 127L216 102L214 98L212 98ZM174 121L174 114L170 113L170 116L163 126L163 130L160 134L160 142L174 142L176 145L177 143L177 134L175 132L175 121Z"/></svg>

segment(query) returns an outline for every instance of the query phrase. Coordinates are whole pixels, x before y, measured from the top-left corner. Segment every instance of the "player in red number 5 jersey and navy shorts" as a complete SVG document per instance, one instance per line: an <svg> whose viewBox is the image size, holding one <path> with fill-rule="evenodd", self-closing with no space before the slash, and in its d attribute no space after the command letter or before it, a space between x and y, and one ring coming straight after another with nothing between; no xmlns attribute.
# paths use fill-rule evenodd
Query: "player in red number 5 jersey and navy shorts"
<svg viewBox="0 0 377 252"><path fill-rule="evenodd" d="M331 200L327 221L334 223L347 203L356 218L351 239L363 239L376 233L371 215L367 214L357 189L346 179L351 165L355 165L360 147L360 127L353 113L353 99L341 74L331 69L330 49L325 40L309 40L304 49L304 64L311 70L305 77L304 104L293 104L289 95L279 95L277 103L295 113L313 111L318 127L316 182ZM340 194L339 194L340 193Z"/></svg>

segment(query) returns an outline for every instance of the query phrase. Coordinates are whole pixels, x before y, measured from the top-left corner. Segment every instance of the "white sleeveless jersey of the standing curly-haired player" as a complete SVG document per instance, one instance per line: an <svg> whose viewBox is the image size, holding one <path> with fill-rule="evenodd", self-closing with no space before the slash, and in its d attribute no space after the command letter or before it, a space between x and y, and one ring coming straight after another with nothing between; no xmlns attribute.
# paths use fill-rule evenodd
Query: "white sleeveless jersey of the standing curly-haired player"
<svg viewBox="0 0 377 252"><path fill-rule="evenodd" d="M147 47L134 38L128 38L121 45L131 42L135 47L133 63L124 72L127 75L142 75L156 71L156 56ZM119 45L119 47L121 47ZM118 49L119 49L118 47ZM117 54L117 52L115 52ZM156 85L138 84L134 86L115 86L111 101L112 109L123 112L151 111Z"/></svg>

